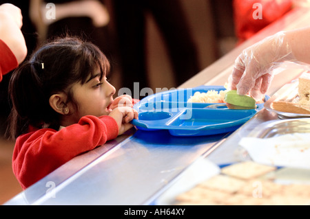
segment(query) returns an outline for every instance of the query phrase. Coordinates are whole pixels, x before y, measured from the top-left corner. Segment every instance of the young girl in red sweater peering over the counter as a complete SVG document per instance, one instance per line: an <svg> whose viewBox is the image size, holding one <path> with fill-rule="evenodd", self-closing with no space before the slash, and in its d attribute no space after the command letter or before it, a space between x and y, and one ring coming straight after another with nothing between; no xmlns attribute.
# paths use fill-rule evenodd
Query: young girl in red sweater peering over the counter
<svg viewBox="0 0 310 219"><path fill-rule="evenodd" d="M12 168L23 189L132 128L129 122L138 117L134 102L128 95L113 100L109 71L98 47L77 38L43 45L14 71Z"/></svg>

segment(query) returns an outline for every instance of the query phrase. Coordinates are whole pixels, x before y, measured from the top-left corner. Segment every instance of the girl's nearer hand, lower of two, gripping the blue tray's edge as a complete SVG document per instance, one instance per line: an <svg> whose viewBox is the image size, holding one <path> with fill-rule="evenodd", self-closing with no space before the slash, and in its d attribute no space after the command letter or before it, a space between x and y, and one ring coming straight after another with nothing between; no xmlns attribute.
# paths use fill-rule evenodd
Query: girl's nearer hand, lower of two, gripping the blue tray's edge
<svg viewBox="0 0 310 219"><path fill-rule="evenodd" d="M133 127L130 124L132 119L138 119L138 112L129 106L116 107L109 115L115 119L118 125L118 135Z"/></svg>

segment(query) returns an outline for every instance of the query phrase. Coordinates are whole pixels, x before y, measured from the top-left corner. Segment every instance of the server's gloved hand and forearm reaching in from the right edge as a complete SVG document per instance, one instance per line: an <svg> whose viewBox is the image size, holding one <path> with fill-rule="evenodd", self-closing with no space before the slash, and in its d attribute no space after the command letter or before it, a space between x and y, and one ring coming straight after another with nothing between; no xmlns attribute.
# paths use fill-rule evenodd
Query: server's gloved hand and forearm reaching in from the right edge
<svg viewBox="0 0 310 219"><path fill-rule="evenodd" d="M310 64L310 27L278 32L247 47L236 58L229 76L229 89L262 100L282 62Z"/></svg>

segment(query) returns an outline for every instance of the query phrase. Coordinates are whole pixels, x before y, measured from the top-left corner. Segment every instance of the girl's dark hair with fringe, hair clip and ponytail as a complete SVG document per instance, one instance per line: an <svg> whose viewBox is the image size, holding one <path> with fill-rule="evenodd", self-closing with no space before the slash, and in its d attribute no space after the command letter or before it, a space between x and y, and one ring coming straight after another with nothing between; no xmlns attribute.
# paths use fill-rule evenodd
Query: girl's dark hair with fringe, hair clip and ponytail
<svg viewBox="0 0 310 219"><path fill-rule="evenodd" d="M70 91L72 84L84 84L98 68L101 77L107 75L109 61L96 45L79 38L56 38L39 47L30 60L14 71L10 80L10 137L15 139L27 132L30 125L59 127L60 114L50 106L50 96L64 92L67 102L76 106Z"/></svg>

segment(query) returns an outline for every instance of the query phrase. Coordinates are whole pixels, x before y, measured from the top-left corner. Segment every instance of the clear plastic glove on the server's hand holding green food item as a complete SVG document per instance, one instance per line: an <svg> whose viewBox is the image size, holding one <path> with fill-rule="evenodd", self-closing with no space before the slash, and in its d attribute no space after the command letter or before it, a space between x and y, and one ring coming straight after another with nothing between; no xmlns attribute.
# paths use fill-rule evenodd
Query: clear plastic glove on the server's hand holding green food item
<svg viewBox="0 0 310 219"><path fill-rule="evenodd" d="M248 47L236 58L229 76L229 89L262 100L276 69L284 61L296 61L285 32L278 32Z"/></svg>

